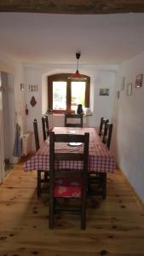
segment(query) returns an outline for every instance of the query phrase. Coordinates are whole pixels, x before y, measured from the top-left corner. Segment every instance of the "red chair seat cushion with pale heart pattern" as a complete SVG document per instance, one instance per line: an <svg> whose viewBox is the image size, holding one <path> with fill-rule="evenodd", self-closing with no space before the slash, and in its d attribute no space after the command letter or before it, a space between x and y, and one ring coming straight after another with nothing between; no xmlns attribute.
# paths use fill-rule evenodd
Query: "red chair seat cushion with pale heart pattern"
<svg viewBox="0 0 144 256"><path fill-rule="evenodd" d="M55 181L55 197L81 197L82 180L80 178L61 178Z"/></svg>

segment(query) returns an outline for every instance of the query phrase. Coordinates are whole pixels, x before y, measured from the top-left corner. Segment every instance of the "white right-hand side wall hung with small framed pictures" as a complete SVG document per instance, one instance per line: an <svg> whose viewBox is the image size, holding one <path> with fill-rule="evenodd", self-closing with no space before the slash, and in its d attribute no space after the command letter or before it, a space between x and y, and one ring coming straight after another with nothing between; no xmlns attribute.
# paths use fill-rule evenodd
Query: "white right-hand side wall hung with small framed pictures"
<svg viewBox="0 0 144 256"><path fill-rule="evenodd" d="M118 69L117 90L125 77L125 88L116 99L114 125L115 153L118 166L144 201L144 83L135 88L135 77L144 74L144 52L129 61L124 61ZM132 95L126 95L127 83L133 83Z"/></svg>

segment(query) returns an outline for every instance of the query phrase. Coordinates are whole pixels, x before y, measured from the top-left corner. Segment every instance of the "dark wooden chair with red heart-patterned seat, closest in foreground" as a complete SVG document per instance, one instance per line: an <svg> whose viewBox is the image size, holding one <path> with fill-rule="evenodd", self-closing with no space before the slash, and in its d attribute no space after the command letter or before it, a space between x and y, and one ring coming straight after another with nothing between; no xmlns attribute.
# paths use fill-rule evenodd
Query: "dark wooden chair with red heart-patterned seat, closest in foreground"
<svg viewBox="0 0 144 256"><path fill-rule="evenodd" d="M55 151L55 143L84 143L80 153ZM81 146L80 146L81 147ZM55 134L49 135L49 229L54 228L55 213L58 211L78 211L81 214L81 229L86 228L86 197L87 197L87 172L89 156L89 133L78 134ZM55 161L80 161L82 168L80 170L56 169ZM80 200L79 207L56 208L57 200L65 198L65 201Z"/></svg>

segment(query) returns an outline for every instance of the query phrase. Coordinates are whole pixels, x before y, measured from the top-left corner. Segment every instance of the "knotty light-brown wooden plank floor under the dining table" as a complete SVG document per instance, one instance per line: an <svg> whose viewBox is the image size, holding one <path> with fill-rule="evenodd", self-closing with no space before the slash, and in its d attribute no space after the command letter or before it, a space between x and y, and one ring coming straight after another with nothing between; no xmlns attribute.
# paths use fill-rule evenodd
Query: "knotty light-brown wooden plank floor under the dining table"
<svg viewBox="0 0 144 256"><path fill-rule="evenodd" d="M0 256L144 255L144 210L119 171L108 176L106 201L89 199L85 231L77 215L59 216L49 230L36 174L17 165L0 187Z"/></svg>

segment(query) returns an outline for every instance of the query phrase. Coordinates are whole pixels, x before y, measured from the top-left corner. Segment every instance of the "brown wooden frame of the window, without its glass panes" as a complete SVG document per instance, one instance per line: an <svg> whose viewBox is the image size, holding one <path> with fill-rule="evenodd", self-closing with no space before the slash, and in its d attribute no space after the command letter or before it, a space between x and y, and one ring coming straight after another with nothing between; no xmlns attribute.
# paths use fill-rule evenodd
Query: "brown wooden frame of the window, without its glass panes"
<svg viewBox="0 0 144 256"><path fill-rule="evenodd" d="M74 79L69 79L72 76L72 73L58 73L48 76L48 108L53 111L53 113L74 113L71 110L71 82L76 81ZM85 84L85 108L89 108L89 96L90 96L90 78L89 76L84 75L85 79L79 79L77 82L84 81ZM66 110L64 109L53 109L53 82L66 82Z"/></svg>

